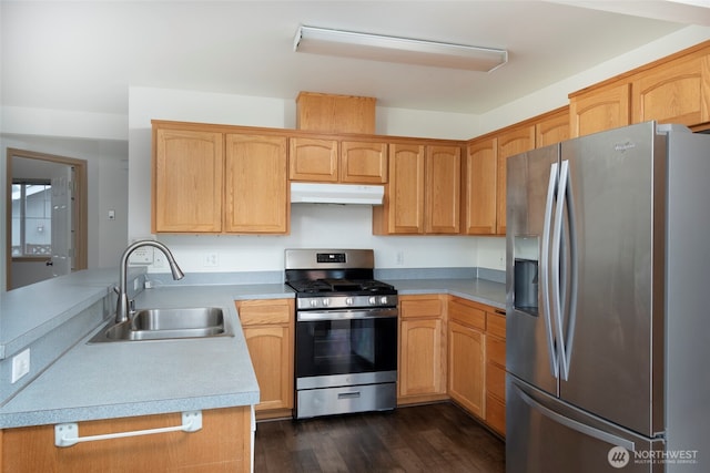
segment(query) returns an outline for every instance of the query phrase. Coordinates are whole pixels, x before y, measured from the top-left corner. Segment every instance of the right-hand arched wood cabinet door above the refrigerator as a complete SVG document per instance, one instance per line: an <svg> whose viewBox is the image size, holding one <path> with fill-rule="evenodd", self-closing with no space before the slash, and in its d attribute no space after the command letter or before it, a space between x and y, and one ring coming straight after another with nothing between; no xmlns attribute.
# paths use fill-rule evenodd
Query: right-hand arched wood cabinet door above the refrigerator
<svg viewBox="0 0 710 473"><path fill-rule="evenodd" d="M633 123L657 120L692 126L710 121L710 55L693 55L635 75Z"/></svg>

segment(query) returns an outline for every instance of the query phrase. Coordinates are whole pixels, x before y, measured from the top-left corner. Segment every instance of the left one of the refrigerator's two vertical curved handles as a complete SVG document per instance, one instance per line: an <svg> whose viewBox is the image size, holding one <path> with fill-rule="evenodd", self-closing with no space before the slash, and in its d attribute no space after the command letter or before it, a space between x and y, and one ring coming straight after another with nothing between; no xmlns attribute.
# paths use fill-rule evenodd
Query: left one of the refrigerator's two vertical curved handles
<svg viewBox="0 0 710 473"><path fill-rule="evenodd" d="M550 371L555 378L559 378L559 359L555 338L552 336L552 315L550 310L550 232L552 228L552 208L555 206L555 195L557 193L557 163L550 166L550 178L547 185L547 200L545 202L545 223L542 225L542 251L540 255L540 279L542 297L542 318L547 335L547 352L550 358Z"/></svg>

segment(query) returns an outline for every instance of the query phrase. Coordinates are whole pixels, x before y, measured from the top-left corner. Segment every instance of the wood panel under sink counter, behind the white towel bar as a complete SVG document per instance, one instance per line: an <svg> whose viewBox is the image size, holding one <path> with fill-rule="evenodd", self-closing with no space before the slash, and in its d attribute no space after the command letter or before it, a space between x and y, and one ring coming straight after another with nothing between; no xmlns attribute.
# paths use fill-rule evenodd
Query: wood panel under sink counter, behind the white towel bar
<svg viewBox="0 0 710 473"><path fill-rule="evenodd" d="M79 422L79 435L180 425L181 414ZM248 405L202 411L202 429L54 446L54 425L0 431L0 471L52 473L250 472Z"/></svg>

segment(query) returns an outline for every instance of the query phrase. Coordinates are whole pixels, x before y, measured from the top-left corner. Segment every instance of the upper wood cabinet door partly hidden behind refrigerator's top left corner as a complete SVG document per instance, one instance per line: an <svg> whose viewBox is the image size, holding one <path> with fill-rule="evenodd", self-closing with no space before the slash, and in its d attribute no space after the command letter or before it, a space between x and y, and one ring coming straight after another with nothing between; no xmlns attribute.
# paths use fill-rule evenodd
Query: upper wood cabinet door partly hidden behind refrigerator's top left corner
<svg viewBox="0 0 710 473"><path fill-rule="evenodd" d="M526 125L498 135L496 172L496 234L506 234L506 161L509 156L535 148L535 126Z"/></svg>

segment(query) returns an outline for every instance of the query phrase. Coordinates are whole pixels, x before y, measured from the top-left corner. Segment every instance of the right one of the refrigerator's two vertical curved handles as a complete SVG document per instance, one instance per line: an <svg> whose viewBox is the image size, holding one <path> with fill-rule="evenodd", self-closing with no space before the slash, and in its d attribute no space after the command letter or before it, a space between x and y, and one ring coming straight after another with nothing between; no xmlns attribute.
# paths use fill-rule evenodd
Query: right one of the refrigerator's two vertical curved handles
<svg viewBox="0 0 710 473"><path fill-rule="evenodd" d="M567 198L567 184L569 182L569 162L567 160L561 162L559 171L559 182L557 185L557 208L555 210L555 223L552 225L552 255L550 260L550 276L552 281L551 298L552 298L552 325L555 327L555 338L557 340L557 350L559 357L559 370L560 378L567 381L569 376L569 358L566 350L565 333L562 327L562 308L565 307L564 292L562 292L562 278L560 277L560 258L562 256L562 233L565 216L565 204Z"/></svg>

